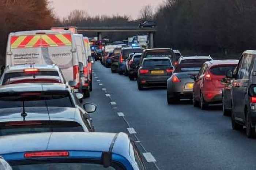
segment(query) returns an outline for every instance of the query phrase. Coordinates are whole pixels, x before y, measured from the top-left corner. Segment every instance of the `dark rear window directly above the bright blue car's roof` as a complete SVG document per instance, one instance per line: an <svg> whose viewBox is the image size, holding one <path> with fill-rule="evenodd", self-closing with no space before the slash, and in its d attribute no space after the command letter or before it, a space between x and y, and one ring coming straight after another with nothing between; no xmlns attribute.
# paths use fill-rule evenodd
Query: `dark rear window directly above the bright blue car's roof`
<svg viewBox="0 0 256 170"><path fill-rule="evenodd" d="M84 130L82 125L75 121L15 121L0 123L0 136L46 132L84 132Z"/></svg>

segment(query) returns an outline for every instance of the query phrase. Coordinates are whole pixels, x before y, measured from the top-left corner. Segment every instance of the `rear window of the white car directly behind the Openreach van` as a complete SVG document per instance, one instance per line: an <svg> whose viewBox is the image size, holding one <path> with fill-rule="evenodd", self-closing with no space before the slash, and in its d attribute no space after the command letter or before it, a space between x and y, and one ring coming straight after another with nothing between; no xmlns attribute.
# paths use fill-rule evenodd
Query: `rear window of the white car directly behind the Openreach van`
<svg viewBox="0 0 256 170"><path fill-rule="evenodd" d="M26 78L26 77L37 77L37 76L56 76L59 77L57 71L34 71L34 72L10 72L4 74L3 84L10 81L12 78Z"/></svg>

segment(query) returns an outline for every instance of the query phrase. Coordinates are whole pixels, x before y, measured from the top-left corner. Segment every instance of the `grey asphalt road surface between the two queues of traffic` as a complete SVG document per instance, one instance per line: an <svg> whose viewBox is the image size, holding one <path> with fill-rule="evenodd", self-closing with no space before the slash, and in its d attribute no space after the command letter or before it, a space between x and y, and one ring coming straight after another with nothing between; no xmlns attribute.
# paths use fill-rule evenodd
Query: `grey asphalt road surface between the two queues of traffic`
<svg viewBox="0 0 256 170"><path fill-rule="evenodd" d="M157 160L156 166L147 163L148 169L256 168L256 140L247 139L245 129L233 131L230 117L222 116L221 107L212 106L202 111L185 102L167 105L166 89L139 91L136 81L112 74L99 62L94 64L94 74L93 92L86 102L98 105L97 113L92 115L96 131L128 133L129 124L138 139L133 134L131 137L139 140ZM117 105L112 106L110 101ZM128 124L117 112L123 112Z"/></svg>

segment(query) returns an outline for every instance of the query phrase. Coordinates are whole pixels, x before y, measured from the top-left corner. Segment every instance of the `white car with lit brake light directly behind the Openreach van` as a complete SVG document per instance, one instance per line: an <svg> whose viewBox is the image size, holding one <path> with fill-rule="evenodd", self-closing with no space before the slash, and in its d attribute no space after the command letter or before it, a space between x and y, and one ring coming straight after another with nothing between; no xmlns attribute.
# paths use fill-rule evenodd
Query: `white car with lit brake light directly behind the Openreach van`
<svg viewBox="0 0 256 170"><path fill-rule="evenodd" d="M16 65L4 69L0 86L16 83L63 83L61 69L53 65Z"/></svg>

